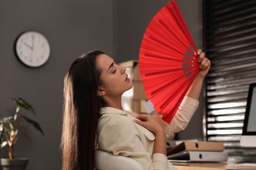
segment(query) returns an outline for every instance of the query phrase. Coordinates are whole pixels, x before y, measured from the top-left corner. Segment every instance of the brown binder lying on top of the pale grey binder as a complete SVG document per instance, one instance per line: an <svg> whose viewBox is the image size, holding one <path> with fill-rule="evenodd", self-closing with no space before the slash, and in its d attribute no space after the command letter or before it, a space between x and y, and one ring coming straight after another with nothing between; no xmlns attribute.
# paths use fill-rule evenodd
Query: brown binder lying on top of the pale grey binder
<svg viewBox="0 0 256 170"><path fill-rule="evenodd" d="M169 148L167 156L185 151L223 152L223 150L224 144L221 142L184 141L173 148Z"/></svg>

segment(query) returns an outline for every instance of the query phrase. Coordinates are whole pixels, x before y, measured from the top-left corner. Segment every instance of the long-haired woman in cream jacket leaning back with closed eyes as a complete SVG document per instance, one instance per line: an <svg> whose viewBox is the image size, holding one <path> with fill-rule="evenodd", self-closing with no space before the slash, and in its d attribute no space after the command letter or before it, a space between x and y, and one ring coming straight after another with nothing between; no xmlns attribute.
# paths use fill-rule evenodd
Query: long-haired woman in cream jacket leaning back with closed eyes
<svg viewBox="0 0 256 170"><path fill-rule="evenodd" d="M173 131L184 129L194 114L210 67L201 50L198 61L202 71L186 94L178 116L167 126L159 116L123 110L121 95L133 87L125 67L99 50L77 58L64 78L62 169L94 169L96 136L100 149L129 156L145 169L175 169L166 158L163 126Z"/></svg>

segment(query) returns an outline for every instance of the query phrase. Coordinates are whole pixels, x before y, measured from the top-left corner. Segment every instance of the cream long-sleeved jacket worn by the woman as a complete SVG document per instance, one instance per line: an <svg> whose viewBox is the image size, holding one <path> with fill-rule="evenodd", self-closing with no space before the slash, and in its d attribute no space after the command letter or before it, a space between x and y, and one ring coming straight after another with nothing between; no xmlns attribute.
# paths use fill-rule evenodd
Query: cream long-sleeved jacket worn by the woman
<svg viewBox="0 0 256 170"><path fill-rule="evenodd" d="M184 129L198 107L198 100L185 96L171 124L163 123L167 135ZM133 122L135 112L104 107L98 119L97 137L100 150L128 156L144 169L177 169L164 154L152 154L155 135Z"/></svg>

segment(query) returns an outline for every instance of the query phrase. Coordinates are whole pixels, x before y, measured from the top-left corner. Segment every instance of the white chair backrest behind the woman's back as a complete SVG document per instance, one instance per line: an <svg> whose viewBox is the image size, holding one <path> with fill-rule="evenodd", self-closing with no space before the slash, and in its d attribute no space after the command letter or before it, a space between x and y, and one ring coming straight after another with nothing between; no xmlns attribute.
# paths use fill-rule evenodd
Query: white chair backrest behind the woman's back
<svg viewBox="0 0 256 170"><path fill-rule="evenodd" d="M95 150L95 167L98 170L144 170L138 161L98 149Z"/></svg>

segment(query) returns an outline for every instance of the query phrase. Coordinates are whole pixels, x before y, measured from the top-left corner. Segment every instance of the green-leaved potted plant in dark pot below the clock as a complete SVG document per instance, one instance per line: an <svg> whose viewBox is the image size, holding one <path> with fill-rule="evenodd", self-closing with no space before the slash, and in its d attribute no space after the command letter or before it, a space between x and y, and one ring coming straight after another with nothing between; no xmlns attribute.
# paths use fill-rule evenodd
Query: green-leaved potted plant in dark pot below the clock
<svg viewBox="0 0 256 170"><path fill-rule="evenodd" d="M5 118L0 118L0 144L1 148L9 147L9 158L1 158L1 165L3 170L5 169L18 169L18 164L21 165L21 169L26 169L26 165L28 164L28 158L15 158L14 156L14 146L17 143L19 137L28 129L28 126L35 127L35 129L39 130L42 135L43 130L39 126L37 122L20 114L20 108L24 108L28 110L28 112L35 115L35 110L33 107L22 99L22 97L18 97L18 99L12 98L12 101L16 103L16 111L13 116L8 116Z"/></svg>

